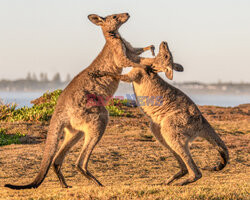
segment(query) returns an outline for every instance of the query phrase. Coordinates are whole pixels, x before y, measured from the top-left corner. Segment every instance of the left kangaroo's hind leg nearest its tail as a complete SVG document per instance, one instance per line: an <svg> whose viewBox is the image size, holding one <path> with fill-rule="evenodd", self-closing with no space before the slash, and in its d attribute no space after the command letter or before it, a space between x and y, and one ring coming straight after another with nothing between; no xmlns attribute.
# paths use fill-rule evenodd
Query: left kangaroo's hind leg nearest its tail
<svg viewBox="0 0 250 200"><path fill-rule="evenodd" d="M70 186L67 185L64 179L64 176L61 172L62 163L67 152L70 150L70 148L73 147L77 143L77 141L83 136L83 132L76 131L72 129L71 127L64 128L64 131L65 131L64 141L59 151L57 152L52 165L53 165L54 172L56 173L60 181L61 186L63 188L68 188Z"/></svg>

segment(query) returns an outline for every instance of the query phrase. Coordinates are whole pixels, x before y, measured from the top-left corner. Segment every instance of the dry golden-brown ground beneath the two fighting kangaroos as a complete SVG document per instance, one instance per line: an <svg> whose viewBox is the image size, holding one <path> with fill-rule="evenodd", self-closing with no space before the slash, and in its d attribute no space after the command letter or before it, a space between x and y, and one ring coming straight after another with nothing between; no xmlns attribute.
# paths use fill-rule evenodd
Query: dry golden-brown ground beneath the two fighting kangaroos
<svg viewBox="0 0 250 200"><path fill-rule="evenodd" d="M178 171L172 154L149 131L148 120L138 108L126 108L133 117L111 117L96 146L89 170L105 187L96 187L75 168L83 140L63 165L72 188L62 189L53 170L38 189L15 191L6 183L29 183L42 159L48 123L0 123L8 133L20 131L22 144L0 147L0 199L250 199L250 104L238 107L201 106L200 110L226 143L230 162L222 171L202 170L219 161L218 152L197 138L190 146L203 177L188 186L167 186Z"/></svg>

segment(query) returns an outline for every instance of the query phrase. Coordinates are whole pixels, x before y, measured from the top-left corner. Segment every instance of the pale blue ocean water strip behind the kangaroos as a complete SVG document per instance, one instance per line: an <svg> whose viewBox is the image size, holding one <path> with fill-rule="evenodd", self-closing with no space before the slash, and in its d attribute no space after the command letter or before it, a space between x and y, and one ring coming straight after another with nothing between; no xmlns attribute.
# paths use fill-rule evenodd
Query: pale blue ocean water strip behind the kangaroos
<svg viewBox="0 0 250 200"><path fill-rule="evenodd" d="M42 92L1 92L0 91L0 101L3 103L16 103L18 107L23 106L32 106L30 103L31 100L34 100L40 97ZM128 96L133 95L131 90L122 90L118 89L115 93L116 96L123 96L127 98ZM198 105L215 105L215 106L238 106L239 104L250 103L250 94L249 95L235 95L235 94L188 94L188 96Z"/></svg>

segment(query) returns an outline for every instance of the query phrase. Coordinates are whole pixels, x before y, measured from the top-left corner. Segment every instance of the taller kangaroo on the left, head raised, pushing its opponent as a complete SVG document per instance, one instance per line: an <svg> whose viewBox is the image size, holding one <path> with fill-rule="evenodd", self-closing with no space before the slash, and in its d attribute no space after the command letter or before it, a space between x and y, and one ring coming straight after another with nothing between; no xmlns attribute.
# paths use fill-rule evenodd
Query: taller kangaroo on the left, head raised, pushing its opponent
<svg viewBox="0 0 250 200"><path fill-rule="evenodd" d="M61 167L66 153L84 135L84 143L77 159L77 169L88 179L99 186L102 184L88 171L90 155L105 132L108 123L108 111L104 106L89 105L88 95L102 96L108 100L117 90L119 80L112 77L104 77L96 80L89 74L96 70L104 70L115 74L121 74L123 67L145 68L145 65L129 59L143 53L154 51L154 46L145 48L133 48L127 41L121 38L118 29L129 19L128 13L109 15L105 18L95 14L88 19L100 26L106 43L100 54L92 64L80 72L63 90L60 95L55 111L50 121L45 150L41 167L35 179L27 185L6 184L5 187L12 189L37 188L45 179L52 164L62 187L66 184ZM64 141L56 153L59 139L64 131Z"/></svg>

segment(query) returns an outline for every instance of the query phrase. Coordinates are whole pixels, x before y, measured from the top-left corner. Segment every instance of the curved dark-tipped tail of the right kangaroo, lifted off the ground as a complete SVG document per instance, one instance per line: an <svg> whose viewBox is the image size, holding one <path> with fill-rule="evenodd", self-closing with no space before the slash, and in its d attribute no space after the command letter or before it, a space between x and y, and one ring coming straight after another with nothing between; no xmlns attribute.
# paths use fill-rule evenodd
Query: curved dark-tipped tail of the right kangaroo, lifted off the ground
<svg viewBox="0 0 250 200"><path fill-rule="evenodd" d="M204 119L206 120L206 119ZM204 134L204 137L210 144L212 144L220 153L221 161L218 166L215 166L212 171L222 170L228 163L229 153L225 143L221 140L220 136L215 132L215 130L211 127L211 125L207 122Z"/></svg>

